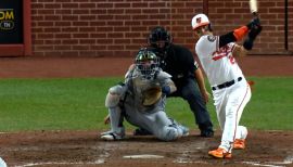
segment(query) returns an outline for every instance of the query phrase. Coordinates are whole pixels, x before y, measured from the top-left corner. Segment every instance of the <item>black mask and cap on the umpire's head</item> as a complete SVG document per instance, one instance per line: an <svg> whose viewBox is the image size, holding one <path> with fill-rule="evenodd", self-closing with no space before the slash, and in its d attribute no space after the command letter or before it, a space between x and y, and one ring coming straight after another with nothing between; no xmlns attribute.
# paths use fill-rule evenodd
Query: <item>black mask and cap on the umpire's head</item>
<svg viewBox="0 0 293 167"><path fill-rule="evenodd" d="M158 41L164 41L163 48L157 46ZM171 43L171 36L164 27L157 26L151 30L149 36L149 43L151 47L156 49L167 49Z"/></svg>

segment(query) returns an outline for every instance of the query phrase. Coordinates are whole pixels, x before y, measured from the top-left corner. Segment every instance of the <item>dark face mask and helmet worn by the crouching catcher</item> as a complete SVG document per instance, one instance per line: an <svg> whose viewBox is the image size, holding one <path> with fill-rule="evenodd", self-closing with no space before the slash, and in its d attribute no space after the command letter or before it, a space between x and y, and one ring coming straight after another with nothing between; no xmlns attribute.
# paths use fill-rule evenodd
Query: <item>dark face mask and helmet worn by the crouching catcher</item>
<svg viewBox="0 0 293 167"><path fill-rule="evenodd" d="M136 68L143 79L153 79L158 70L158 59L153 51L140 49L136 57Z"/></svg>

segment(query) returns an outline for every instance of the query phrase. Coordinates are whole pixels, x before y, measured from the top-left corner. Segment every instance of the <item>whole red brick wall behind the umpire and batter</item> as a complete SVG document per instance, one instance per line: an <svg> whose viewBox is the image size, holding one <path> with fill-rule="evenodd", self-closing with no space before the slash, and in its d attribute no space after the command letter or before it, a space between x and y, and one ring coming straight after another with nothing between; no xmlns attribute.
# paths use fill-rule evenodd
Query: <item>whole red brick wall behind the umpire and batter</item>
<svg viewBox="0 0 293 167"><path fill-rule="evenodd" d="M260 0L260 5L265 28L254 52L286 53L283 0ZM251 20L247 0L209 0L208 7L215 33ZM133 56L157 25L165 26L176 43L193 51L190 22L202 8L202 0L31 0L33 52L36 56Z"/></svg>

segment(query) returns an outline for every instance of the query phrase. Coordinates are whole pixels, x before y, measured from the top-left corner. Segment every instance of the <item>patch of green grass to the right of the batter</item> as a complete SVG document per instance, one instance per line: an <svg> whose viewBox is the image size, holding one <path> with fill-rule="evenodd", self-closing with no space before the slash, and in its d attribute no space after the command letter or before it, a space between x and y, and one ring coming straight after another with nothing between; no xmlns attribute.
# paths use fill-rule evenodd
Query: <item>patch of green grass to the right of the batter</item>
<svg viewBox="0 0 293 167"><path fill-rule="evenodd" d="M242 123L252 129L293 130L293 78L255 81Z"/></svg>

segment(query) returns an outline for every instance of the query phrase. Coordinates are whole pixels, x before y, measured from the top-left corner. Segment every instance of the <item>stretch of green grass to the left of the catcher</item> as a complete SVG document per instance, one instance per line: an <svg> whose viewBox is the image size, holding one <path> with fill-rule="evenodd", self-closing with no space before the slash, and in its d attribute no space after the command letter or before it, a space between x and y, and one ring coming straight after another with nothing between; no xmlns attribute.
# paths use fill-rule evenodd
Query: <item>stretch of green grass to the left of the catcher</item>
<svg viewBox="0 0 293 167"><path fill-rule="evenodd" d="M0 80L0 130L94 129L117 79Z"/></svg>

